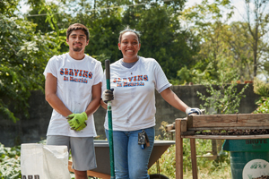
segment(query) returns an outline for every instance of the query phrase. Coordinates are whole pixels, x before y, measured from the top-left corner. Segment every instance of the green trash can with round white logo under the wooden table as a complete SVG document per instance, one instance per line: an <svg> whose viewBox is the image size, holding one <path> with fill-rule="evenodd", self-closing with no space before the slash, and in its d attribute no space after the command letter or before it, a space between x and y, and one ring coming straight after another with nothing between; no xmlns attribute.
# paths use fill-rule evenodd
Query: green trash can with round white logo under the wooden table
<svg viewBox="0 0 269 179"><path fill-rule="evenodd" d="M226 140L222 149L230 151L232 179L269 175L269 139Z"/></svg>

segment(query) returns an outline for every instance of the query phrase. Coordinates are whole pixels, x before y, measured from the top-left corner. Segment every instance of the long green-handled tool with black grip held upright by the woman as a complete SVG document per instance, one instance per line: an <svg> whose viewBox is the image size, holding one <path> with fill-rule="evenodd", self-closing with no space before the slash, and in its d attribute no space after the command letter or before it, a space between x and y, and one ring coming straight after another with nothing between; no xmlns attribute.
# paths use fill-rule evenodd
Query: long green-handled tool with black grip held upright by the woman
<svg viewBox="0 0 269 179"><path fill-rule="evenodd" d="M107 90L110 90L110 61L106 60L106 80ZM112 111L111 101L108 101L108 134L109 134L109 157L110 157L110 178L115 178L115 166L114 166L114 145L113 145L113 127L112 127Z"/></svg>

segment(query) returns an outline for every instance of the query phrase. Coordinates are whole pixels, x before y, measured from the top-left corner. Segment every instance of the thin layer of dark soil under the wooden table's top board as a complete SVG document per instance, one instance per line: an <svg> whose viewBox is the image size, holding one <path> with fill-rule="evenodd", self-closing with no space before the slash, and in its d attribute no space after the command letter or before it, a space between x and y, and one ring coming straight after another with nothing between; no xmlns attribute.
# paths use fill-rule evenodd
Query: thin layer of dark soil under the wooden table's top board
<svg viewBox="0 0 269 179"><path fill-rule="evenodd" d="M269 129L247 129L247 130L207 130L197 131L195 135L265 135Z"/></svg>

